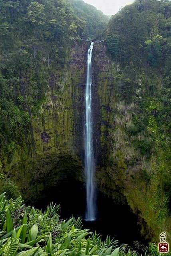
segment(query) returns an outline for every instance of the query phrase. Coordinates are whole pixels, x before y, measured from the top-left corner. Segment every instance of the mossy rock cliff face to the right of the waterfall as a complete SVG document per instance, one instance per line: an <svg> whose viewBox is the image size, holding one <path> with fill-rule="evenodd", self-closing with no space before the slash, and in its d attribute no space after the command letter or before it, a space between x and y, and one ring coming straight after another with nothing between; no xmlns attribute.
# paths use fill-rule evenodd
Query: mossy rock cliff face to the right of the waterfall
<svg viewBox="0 0 171 256"><path fill-rule="evenodd" d="M164 152L162 149L158 150L157 138L155 141L152 137L147 142L148 145L153 144L155 149L149 156L148 147L140 148L141 143L146 140L145 133L141 132L139 135L132 133L130 136L128 132L130 127L134 127L135 117L139 118L143 125L143 114L139 116L141 113L139 102L142 99L140 91L145 90L149 79L148 71L144 71L147 72L146 74L139 74L141 79L137 78L139 83L139 90L136 89L137 96L134 101L129 102L119 98L124 88L118 81L124 71L118 63L110 60L105 42L97 42L94 46L93 68L94 147L98 189L112 197L114 202L128 203L131 206L133 212L139 216L141 234L147 239L151 240L152 237L152 241L157 242L159 234L165 230L170 240L169 198L162 189L159 171L161 170L159 166L165 162ZM125 78L125 82L127 81L130 82ZM160 78L157 83L162 83ZM147 127L147 130L150 128ZM167 180L169 179L167 161L164 165Z"/></svg>

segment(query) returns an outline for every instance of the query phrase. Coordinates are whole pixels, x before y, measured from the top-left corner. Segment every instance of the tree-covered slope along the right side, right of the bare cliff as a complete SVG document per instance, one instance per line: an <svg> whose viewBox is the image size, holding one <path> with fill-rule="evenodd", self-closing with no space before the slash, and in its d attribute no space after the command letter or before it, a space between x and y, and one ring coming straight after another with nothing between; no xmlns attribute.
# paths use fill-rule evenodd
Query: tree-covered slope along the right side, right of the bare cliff
<svg viewBox="0 0 171 256"><path fill-rule="evenodd" d="M111 17L106 31L108 52L117 66L113 148L122 151L119 161L125 160L127 177L134 177L125 192L127 199L132 208L141 204L153 230L155 223L162 229L165 221L171 228L171 194L166 185L171 176L170 21L171 1L136 0Z"/></svg>

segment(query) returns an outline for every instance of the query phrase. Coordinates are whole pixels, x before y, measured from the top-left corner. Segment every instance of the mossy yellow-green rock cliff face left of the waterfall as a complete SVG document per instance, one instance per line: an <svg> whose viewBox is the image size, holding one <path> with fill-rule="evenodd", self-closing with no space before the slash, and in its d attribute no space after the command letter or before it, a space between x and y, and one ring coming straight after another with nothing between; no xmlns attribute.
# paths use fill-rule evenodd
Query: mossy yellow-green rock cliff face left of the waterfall
<svg viewBox="0 0 171 256"><path fill-rule="evenodd" d="M81 160L84 154L84 85L89 44L84 40L71 42L64 67L59 68L56 64L44 72L47 76L44 98L38 101L36 111L35 106L27 105L31 122L25 134L25 146L13 154L10 162L2 154L4 172L17 182L25 200L37 201L42 190L53 186L68 173L84 180ZM46 64L42 63L42 66L44 68ZM29 78L23 74L20 87L24 98L31 93L29 83Z"/></svg>

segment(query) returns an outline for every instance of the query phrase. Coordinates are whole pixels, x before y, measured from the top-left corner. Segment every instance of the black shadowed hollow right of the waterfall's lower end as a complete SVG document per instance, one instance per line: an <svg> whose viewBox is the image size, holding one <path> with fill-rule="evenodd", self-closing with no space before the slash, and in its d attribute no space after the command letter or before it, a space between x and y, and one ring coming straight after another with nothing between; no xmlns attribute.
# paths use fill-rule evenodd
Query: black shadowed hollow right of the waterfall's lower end
<svg viewBox="0 0 171 256"><path fill-rule="evenodd" d="M102 240L108 235L119 240L119 243L133 245L134 241L145 243L140 234L138 216L133 214L128 204L116 204L112 198L98 192L97 194L97 220L85 222L85 228L96 230L101 234Z"/></svg>

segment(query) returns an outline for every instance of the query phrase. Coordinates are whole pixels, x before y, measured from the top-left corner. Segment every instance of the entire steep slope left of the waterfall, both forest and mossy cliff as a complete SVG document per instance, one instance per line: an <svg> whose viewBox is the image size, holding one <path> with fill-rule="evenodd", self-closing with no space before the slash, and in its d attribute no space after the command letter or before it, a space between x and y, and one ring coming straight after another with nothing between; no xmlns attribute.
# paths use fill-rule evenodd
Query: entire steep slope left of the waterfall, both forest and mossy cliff
<svg viewBox="0 0 171 256"><path fill-rule="evenodd" d="M82 34L65 0L6 0L0 9L0 169L34 201L58 162L82 170L80 84L90 42L74 41Z"/></svg>

